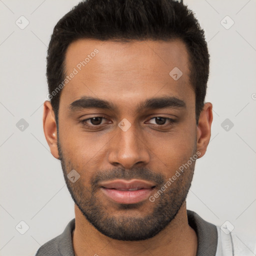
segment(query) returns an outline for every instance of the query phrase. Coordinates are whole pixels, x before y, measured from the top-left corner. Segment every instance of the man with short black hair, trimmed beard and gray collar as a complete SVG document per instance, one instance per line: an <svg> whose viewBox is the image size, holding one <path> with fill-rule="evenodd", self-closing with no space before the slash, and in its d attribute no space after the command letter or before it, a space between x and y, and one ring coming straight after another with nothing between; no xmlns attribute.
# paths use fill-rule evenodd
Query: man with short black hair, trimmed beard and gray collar
<svg viewBox="0 0 256 256"><path fill-rule="evenodd" d="M204 32L182 2L86 0L58 21L43 128L75 218L37 256L242 255L186 209L210 139L208 72Z"/></svg>

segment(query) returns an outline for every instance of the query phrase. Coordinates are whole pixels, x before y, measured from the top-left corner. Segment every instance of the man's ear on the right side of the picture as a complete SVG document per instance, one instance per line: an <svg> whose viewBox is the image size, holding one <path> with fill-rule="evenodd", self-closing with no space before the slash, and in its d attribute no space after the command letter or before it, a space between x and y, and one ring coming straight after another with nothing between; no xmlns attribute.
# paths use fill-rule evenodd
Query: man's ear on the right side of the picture
<svg viewBox="0 0 256 256"><path fill-rule="evenodd" d="M198 158L202 157L206 152L210 140L211 122L212 104L206 102L200 112L196 131L197 151L201 153Z"/></svg>

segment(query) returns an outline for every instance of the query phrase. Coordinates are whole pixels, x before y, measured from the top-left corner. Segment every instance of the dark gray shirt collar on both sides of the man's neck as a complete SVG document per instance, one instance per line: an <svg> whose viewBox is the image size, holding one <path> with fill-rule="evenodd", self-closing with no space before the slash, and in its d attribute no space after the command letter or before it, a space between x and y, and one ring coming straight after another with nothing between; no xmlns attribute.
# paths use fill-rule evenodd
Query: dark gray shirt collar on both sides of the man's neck
<svg viewBox="0 0 256 256"><path fill-rule="evenodd" d="M203 220L194 211L187 210L188 224L197 235L196 256L215 256L217 250L218 233L217 227ZM75 227L73 218L65 227L62 234L44 243L36 252L35 256L74 256L72 244L72 231Z"/></svg>

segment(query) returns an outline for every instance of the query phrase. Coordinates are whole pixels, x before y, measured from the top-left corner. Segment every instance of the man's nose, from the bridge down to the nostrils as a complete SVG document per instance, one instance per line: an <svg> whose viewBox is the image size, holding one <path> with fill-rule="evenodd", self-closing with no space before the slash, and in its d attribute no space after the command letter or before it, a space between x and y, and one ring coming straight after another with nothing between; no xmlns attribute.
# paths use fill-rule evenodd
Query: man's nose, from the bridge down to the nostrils
<svg viewBox="0 0 256 256"><path fill-rule="evenodd" d="M108 162L123 168L146 165L150 159L150 150L146 144L135 125L131 125L126 131L116 127L116 135L109 145Z"/></svg>

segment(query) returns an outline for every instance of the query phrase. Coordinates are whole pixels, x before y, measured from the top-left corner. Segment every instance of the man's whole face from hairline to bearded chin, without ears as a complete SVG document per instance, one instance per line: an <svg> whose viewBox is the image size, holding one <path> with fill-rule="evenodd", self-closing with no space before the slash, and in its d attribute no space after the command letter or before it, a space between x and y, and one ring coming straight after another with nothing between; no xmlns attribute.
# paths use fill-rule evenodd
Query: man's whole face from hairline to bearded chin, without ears
<svg viewBox="0 0 256 256"><path fill-rule="evenodd" d="M183 204L195 163L166 185L196 153L185 44L80 39L69 45L65 65L75 75L60 96L58 153L74 202L109 237L154 236ZM182 71L177 80L169 75L174 67ZM67 178L73 169L80 175L75 182Z"/></svg>

